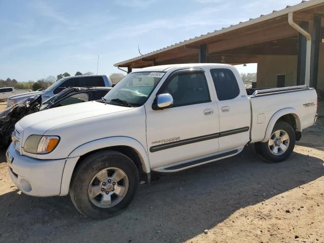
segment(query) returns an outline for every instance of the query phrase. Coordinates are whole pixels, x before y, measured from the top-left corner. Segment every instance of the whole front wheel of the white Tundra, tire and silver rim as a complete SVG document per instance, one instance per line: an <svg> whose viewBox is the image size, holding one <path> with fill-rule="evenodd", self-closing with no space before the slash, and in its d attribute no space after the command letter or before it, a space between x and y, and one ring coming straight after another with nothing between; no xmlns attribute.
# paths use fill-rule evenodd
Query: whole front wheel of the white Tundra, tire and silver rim
<svg viewBox="0 0 324 243"><path fill-rule="evenodd" d="M138 170L128 156L116 151L99 151L86 157L76 168L70 197L84 216L104 219L131 203L138 184Z"/></svg>

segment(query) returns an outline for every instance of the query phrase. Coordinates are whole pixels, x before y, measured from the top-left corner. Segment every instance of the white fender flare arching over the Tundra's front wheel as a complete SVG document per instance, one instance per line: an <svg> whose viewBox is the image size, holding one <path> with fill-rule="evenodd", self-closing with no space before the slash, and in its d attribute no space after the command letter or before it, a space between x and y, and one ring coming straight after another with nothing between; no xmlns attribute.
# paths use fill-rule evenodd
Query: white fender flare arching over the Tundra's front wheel
<svg viewBox="0 0 324 243"><path fill-rule="evenodd" d="M76 147L66 158L63 174L62 174L62 181L61 181L61 192L60 195L64 196L67 195L69 191L70 181L72 178L72 174L75 168L77 161L79 160L80 156L89 153L91 151L108 148L112 146L128 146L133 148L136 153L138 154L142 170L144 173L150 173L150 164L148 159L148 154L143 147L143 145L134 138L130 137L108 137L108 138L101 138L98 140L94 140L85 144L82 144Z"/></svg>

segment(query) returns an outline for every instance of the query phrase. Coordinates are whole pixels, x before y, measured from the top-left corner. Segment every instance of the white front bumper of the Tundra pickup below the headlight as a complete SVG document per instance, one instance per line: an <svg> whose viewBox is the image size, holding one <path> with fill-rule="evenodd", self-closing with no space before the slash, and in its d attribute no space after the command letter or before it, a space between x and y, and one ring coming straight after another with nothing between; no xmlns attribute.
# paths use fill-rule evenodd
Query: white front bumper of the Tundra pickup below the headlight
<svg viewBox="0 0 324 243"><path fill-rule="evenodd" d="M7 152L9 175L23 193L31 196L60 195L66 159L36 159L21 155L11 143Z"/></svg>

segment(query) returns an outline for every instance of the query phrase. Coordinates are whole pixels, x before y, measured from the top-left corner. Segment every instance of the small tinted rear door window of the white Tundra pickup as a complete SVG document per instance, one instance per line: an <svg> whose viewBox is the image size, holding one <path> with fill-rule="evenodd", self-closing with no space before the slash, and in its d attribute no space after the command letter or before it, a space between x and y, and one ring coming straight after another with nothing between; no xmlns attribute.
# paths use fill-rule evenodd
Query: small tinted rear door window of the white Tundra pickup
<svg viewBox="0 0 324 243"><path fill-rule="evenodd" d="M227 68L211 69L218 100L231 100L239 95L234 73Z"/></svg>

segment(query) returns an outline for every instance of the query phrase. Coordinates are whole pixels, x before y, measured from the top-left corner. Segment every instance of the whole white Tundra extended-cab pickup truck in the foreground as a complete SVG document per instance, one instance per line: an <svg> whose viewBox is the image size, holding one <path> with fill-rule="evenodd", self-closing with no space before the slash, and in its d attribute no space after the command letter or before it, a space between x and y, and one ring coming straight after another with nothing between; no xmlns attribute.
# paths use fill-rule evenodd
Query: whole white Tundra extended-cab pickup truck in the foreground
<svg viewBox="0 0 324 243"><path fill-rule="evenodd" d="M130 204L151 171L203 165L249 143L269 162L287 159L316 106L305 86L246 90L230 65L147 67L100 101L22 118L6 153L9 173L28 195L69 192L80 213L105 218Z"/></svg>

